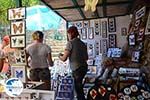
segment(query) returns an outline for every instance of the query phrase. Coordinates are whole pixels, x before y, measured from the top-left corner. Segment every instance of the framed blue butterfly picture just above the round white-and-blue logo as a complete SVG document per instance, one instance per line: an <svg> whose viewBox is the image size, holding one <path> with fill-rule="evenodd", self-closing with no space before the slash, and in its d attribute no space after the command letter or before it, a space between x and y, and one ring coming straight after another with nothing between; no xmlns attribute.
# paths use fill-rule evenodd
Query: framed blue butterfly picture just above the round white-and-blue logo
<svg viewBox="0 0 150 100"><path fill-rule="evenodd" d="M11 77L20 79L22 82L26 82L26 67L25 66L11 66Z"/></svg>

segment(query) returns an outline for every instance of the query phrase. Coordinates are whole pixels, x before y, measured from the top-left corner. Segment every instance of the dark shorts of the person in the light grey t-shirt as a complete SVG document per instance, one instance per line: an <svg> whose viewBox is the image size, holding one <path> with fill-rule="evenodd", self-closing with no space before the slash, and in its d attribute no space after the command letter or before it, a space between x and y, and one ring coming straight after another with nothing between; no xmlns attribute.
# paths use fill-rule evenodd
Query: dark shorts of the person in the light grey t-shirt
<svg viewBox="0 0 150 100"><path fill-rule="evenodd" d="M32 81L50 81L50 70L48 68L36 68L30 70L30 79Z"/></svg>

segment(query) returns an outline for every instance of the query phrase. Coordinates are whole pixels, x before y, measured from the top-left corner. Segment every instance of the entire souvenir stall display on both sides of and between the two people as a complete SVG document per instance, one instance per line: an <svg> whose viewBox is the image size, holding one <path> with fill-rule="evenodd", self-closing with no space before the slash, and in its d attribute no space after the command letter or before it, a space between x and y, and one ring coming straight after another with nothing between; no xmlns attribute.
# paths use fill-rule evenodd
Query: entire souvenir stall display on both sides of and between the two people
<svg viewBox="0 0 150 100"><path fill-rule="evenodd" d="M16 97L6 93L1 97L8 100L73 100L74 84L68 60L54 60L51 91L40 90L42 82L27 80L23 50L26 46L25 8L8 11L11 47L15 48L8 56L11 77L21 80L24 87ZM125 16L68 22L68 27L78 28L79 38L87 45L88 72L83 81L87 100L150 99L150 9L140 5L133 12Z"/></svg>

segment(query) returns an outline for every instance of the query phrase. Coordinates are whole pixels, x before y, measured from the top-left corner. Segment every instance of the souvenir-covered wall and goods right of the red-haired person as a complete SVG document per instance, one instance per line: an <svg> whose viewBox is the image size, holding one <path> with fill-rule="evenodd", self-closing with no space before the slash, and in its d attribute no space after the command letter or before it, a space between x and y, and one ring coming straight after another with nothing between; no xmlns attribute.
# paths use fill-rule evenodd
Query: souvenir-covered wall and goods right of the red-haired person
<svg viewBox="0 0 150 100"><path fill-rule="evenodd" d="M148 15L149 8L141 6L132 17L69 23L87 44L89 71L84 90L89 100L150 99Z"/></svg>

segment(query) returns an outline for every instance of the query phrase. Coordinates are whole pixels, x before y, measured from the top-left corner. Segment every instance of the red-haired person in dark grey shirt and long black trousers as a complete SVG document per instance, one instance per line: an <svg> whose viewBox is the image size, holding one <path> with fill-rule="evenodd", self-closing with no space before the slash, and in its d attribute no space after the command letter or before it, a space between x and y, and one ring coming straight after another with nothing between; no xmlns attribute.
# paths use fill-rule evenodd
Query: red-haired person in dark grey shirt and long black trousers
<svg viewBox="0 0 150 100"><path fill-rule="evenodd" d="M78 38L79 33L75 26L70 27L67 32L69 41L64 54L60 54L59 58L62 61L66 61L69 58L77 99L85 100L82 81L88 69L87 46Z"/></svg>

